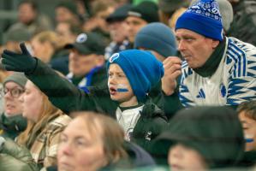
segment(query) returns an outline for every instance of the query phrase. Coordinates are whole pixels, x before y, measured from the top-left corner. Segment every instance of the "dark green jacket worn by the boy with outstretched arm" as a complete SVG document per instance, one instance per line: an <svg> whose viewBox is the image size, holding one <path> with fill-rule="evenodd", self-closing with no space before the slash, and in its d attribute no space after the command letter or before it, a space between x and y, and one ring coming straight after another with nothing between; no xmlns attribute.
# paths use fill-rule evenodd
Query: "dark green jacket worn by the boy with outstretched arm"
<svg viewBox="0 0 256 171"><path fill-rule="evenodd" d="M72 111L92 110L116 119L118 103L110 99L107 88L89 88L90 93L81 91L68 80L58 76L51 68L38 60L37 68L33 74L27 75L39 89L49 97L51 103L63 112L69 114ZM134 127L134 141L146 150L151 146L151 140L167 124L167 119L161 109L147 100L141 112L141 117Z"/></svg>

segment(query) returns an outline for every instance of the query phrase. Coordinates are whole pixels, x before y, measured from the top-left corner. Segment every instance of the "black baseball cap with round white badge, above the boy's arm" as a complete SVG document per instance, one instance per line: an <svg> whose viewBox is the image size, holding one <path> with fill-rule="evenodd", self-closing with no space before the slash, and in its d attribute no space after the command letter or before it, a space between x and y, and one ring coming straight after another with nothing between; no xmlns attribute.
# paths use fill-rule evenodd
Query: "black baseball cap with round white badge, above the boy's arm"
<svg viewBox="0 0 256 171"><path fill-rule="evenodd" d="M64 49L75 49L83 55L104 55L104 48L104 39L94 32L80 33L74 44L66 44L64 46Z"/></svg>

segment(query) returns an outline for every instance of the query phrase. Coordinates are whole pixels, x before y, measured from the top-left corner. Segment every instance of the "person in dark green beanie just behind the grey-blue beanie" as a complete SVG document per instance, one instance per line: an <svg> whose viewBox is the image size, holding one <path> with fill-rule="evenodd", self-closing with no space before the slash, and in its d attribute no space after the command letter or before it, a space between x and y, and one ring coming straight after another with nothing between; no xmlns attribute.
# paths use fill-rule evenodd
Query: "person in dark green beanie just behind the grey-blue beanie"
<svg viewBox="0 0 256 171"><path fill-rule="evenodd" d="M133 45L137 32L151 22L158 22L158 6L156 3L144 1L128 11L125 19L128 24L128 40Z"/></svg>

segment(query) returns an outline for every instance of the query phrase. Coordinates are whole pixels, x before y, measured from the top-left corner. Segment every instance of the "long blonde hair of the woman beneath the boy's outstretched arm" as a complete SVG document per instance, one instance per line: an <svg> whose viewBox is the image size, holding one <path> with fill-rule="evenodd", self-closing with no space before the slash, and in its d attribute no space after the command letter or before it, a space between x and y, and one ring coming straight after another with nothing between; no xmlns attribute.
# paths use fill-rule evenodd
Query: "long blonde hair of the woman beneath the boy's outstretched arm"
<svg viewBox="0 0 256 171"><path fill-rule="evenodd" d="M36 85L34 86L39 90ZM63 111L57 109L42 91L40 91L40 94L42 95L43 99L41 109L39 109L39 121L27 121L26 130L17 138L17 143L26 145L28 149L32 147L34 138L41 133L42 128L45 128L44 126L51 121L51 119L56 118L58 115L63 115Z"/></svg>

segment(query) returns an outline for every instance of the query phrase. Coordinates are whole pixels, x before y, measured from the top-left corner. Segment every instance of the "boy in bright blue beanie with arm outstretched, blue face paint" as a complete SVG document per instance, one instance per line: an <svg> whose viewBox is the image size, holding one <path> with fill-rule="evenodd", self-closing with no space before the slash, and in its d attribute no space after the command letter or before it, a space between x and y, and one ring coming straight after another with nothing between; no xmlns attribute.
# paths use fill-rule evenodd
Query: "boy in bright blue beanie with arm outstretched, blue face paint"
<svg viewBox="0 0 256 171"><path fill-rule="evenodd" d="M150 150L152 139L161 133L166 124L163 111L147 97L152 86L164 75L163 64L151 53L123 50L114 54L107 64L108 90L88 87L86 93L39 59L30 56L24 44L21 44L21 51L22 54L16 54L4 50L4 68L25 72L27 78L45 92L51 103L67 114L93 110L116 118L125 130L127 140Z"/></svg>

